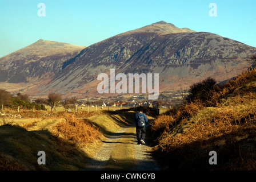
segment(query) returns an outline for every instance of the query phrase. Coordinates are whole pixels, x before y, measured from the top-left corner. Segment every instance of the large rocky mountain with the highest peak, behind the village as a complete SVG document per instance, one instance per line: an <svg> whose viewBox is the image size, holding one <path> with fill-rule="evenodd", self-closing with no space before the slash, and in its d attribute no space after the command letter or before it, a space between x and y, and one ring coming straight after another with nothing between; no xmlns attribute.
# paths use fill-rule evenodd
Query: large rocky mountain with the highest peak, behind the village
<svg viewBox="0 0 256 182"><path fill-rule="evenodd" d="M35 97L49 92L77 98L117 96L97 92L99 73L109 75L110 69L115 69L115 75L159 73L159 91L177 92L207 77L213 77L219 82L237 76L250 66L246 58L256 53L256 48L241 42L210 32L178 28L163 21L79 48L73 56L70 54L58 61L55 57L45 57L45 67L41 66L43 69L26 69L23 66L20 72L29 83L31 76L42 78L41 72L34 75L37 70L47 70L54 74L48 79L39 80L37 86L26 84L19 90ZM63 54L59 52L58 55ZM22 59L21 55L17 55L16 60L19 59ZM28 65L33 64L33 59L33 56L27 57ZM56 63L57 66L49 63ZM2 81L6 80L10 82L13 79L9 75Z"/></svg>

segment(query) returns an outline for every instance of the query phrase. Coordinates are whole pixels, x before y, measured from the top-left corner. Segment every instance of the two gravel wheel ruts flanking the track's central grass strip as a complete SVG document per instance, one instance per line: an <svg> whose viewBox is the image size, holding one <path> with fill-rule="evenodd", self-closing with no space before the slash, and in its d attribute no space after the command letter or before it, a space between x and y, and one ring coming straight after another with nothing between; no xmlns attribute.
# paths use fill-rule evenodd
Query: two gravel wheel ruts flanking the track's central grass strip
<svg viewBox="0 0 256 182"><path fill-rule="evenodd" d="M91 159L87 167L84 169L85 171L102 171L105 170L105 166L107 162L110 160L111 152L115 147L115 144L122 137L122 133L125 133L128 127L135 127L135 125L129 125L126 127L122 127L116 133L111 135L106 141L103 141L101 148L94 155L94 158ZM151 147L147 146L150 141L146 141L146 145L138 145L137 137L134 133L133 139L131 139L131 143L135 148L134 158L137 162L134 170L136 171L158 171L160 170L157 162L153 159L151 155Z"/></svg>

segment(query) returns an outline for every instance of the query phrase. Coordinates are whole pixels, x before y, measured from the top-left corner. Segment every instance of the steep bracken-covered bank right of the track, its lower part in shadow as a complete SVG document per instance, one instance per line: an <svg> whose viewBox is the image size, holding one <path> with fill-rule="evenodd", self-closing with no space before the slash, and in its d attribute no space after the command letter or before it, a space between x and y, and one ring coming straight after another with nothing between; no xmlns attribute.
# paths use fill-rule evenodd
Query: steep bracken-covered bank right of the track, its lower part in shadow
<svg viewBox="0 0 256 182"><path fill-rule="evenodd" d="M174 170L256 169L256 70L159 115L152 130L163 166ZM217 165L209 152L217 152Z"/></svg>

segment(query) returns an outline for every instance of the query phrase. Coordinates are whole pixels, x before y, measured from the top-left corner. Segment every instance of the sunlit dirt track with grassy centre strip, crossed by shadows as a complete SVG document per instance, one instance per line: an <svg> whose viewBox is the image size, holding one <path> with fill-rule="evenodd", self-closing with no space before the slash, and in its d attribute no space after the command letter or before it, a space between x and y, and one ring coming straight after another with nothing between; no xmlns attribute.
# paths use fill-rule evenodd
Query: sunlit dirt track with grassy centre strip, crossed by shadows
<svg viewBox="0 0 256 182"><path fill-rule="evenodd" d="M150 141L146 139L145 145L137 144L135 125L129 125L123 127L122 129L119 129L110 138L102 142L102 147L99 149L97 154L95 154L94 158L91 159L91 162L85 168L86 171L159 170L157 162L153 159L153 156L151 155L152 149L149 146ZM123 152L113 154L115 152L115 148L118 148L118 151Z"/></svg>

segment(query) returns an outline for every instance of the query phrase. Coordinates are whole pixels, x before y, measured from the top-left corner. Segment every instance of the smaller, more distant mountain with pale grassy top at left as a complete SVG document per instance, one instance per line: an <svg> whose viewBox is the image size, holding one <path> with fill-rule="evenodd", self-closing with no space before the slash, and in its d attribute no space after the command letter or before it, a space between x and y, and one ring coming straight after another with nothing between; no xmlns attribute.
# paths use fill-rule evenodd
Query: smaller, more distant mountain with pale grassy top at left
<svg viewBox="0 0 256 182"><path fill-rule="evenodd" d="M38 40L0 58L0 81L9 83L41 79L46 73L58 73L67 59L77 55L83 46Z"/></svg>

